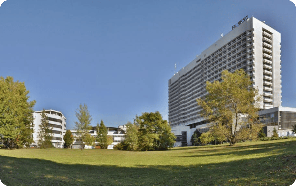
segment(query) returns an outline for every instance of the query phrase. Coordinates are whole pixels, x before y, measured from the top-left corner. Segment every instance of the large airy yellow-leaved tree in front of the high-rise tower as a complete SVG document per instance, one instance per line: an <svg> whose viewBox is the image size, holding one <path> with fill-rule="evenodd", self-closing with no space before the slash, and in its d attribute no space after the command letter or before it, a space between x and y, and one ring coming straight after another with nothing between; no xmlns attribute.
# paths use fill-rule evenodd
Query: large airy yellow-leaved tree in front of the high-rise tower
<svg viewBox="0 0 296 186"><path fill-rule="evenodd" d="M200 114L220 129L230 145L258 135L258 102L261 96L254 89L243 69L222 72L222 82L206 82L208 94L197 99Z"/></svg>

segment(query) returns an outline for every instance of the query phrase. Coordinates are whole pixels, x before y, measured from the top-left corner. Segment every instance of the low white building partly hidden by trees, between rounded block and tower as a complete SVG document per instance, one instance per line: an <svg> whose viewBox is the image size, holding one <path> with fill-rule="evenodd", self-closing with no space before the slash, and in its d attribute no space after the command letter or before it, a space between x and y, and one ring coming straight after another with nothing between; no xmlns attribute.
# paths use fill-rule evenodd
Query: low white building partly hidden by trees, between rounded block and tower
<svg viewBox="0 0 296 186"><path fill-rule="evenodd" d="M125 132L126 132L126 126L120 125L118 127L109 127L106 126L108 135L112 138L113 143L108 145L108 149L113 149L114 145L122 142L125 139ZM71 130L72 135L74 136L74 142L71 145L71 148L81 148L81 138L77 134L76 130ZM96 133L96 126L92 127L92 130L88 132L91 136L97 137ZM94 146L88 146L85 145L84 148L100 148L99 145L95 142Z"/></svg>

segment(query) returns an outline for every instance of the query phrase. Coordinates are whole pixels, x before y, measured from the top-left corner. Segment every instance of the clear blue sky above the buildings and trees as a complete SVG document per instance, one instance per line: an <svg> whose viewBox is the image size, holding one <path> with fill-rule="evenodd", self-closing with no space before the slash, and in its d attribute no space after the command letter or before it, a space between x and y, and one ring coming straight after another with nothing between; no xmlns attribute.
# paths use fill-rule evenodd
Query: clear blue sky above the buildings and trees
<svg viewBox="0 0 296 186"><path fill-rule="evenodd" d="M281 33L282 106L296 107L296 7L289 0L7 0L0 7L0 76L25 82L34 110L92 125L136 114L168 119L168 79L252 15Z"/></svg>

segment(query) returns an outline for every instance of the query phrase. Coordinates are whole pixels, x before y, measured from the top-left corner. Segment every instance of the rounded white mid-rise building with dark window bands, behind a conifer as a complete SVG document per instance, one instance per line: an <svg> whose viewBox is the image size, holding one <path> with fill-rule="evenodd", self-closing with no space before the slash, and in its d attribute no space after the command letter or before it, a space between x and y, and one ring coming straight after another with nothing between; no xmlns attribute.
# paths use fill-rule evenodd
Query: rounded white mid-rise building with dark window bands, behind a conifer
<svg viewBox="0 0 296 186"><path fill-rule="evenodd" d="M41 124L41 113L43 111L36 111L33 113L34 117L34 133L33 133L33 140L34 144L38 144L38 131L39 131L39 125ZM52 126L52 144L56 148L63 148L64 147L64 140L63 140L63 134L65 134L66 131L66 118L65 116L56 110L45 110L45 113L48 117L48 122Z"/></svg>

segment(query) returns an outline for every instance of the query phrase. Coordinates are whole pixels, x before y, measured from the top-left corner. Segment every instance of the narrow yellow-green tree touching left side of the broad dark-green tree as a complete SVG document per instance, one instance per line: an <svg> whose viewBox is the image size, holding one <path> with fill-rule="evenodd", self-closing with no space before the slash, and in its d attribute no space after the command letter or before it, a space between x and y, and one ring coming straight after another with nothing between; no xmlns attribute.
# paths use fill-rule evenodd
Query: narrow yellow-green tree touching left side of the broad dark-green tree
<svg viewBox="0 0 296 186"><path fill-rule="evenodd" d="M136 118L138 116L136 115ZM127 130L125 133L125 142L128 144L127 150L135 150L137 149L138 145L138 130L139 125L136 122L136 119L134 119L134 123L128 122L126 124Z"/></svg>

